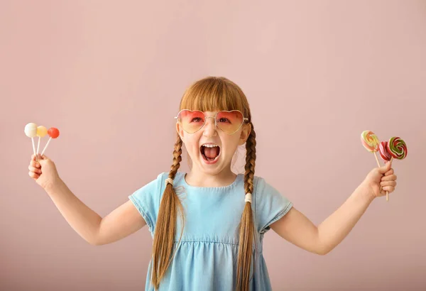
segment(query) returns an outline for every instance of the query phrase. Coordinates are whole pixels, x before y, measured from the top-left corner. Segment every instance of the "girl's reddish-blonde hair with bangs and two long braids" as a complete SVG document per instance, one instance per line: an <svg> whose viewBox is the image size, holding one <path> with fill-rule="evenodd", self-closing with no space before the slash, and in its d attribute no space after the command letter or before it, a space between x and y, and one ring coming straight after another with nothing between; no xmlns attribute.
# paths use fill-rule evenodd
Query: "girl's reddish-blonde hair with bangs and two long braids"
<svg viewBox="0 0 426 291"><path fill-rule="evenodd" d="M201 111L229 111L237 109L243 113L244 117L249 118L247 122L251 125L251 132L246 141L244 192L253 193L254 166L256 162L256 133L253 129L253 123L251 123L249 102L240 87L225 77L205 77L204 79L194 82L185 91L180 101L180 110L181 109L197 109ZM180 162L182 161L181 155L182 140L179 134L177 134L175 150L173 150L173 165L170 167L168 175L171 179L175 179L176 172L178 172ZM241 200L242 199L244 199L244 195L241 195ZM182 231L180 233L180 238L182 238L185 220L182 204L173 189L173 185L168 184L161 198L154 232L151 282L155 290L158 289L160 280L165 275L174 256L174 253L172 256L172 251L178 214L180 219L182 219ZM251 255L253 252L253 238L255 238L255 236L256 232L253 213L251 211L251 203L246 202L239 224L236 291L249 290ZM180 243L180 238L178 244Z"/></svg>

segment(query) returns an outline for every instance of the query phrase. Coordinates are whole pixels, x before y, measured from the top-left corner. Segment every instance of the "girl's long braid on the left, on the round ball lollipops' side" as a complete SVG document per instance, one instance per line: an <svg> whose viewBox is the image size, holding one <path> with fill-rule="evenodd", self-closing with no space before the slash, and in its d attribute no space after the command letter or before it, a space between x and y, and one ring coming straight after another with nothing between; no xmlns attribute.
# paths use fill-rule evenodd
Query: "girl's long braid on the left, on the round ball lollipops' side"
<svg viewBox="0 0 426 291"><path fill-rule="evenodd" d="M178 135L175 143L175 149L173 150L173 165L170 167L168 177L172 180L175 179L176 172L180 167L182 161L182 139ZM182 219L182 231L180 238L183 234L183 209L180 199L173 188L173 185L167 183L163 192L163 197L160 202L160 209L158 209L158 219L155 226L154 241L153 241L153 272L151 282L153 283L155 290L158 290L160 286L160 280L165 275L165 271L168 269L173 256L173 241L175 239L176 231L176 218L180 214ZM180 238L179 242L180 243ZM171 256L171 257L170 257Z"/></svg>

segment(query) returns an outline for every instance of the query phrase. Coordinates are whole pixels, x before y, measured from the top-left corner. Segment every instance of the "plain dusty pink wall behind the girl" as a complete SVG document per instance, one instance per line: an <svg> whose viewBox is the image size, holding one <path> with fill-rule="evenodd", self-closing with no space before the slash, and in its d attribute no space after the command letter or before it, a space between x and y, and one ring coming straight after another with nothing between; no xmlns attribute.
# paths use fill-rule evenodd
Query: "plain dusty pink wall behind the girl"
<svg viewBox="0 0 426 291"><path fill-rule="evenodd" d="M244 90L256 175L315 224L376 167L362 131L408 144L390 201L327 256L266 235L274 290L426 290L425 1L6 0L0 28L0 290L143 290L148 228L80 238L28 177L23 128L60 129L46 154L105 216L170 169L180 97L207 75Z"/></svg>

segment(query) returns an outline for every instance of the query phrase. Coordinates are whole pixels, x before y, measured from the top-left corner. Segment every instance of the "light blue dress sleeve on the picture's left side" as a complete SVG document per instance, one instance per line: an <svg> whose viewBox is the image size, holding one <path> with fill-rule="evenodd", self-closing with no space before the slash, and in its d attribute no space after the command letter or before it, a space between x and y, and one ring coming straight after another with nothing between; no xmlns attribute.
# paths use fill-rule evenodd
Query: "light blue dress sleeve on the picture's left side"
<svg viewBox="0 0 426 291"><path fill-rule="evenodd" d="M163 194L163 177L164 172L157 176L145 186L129 195L129 199L133 205L138 209L138 212L145 219L149 231L153 234L155 223L158 217L158 209L160 207L160 200Z"/></svg>

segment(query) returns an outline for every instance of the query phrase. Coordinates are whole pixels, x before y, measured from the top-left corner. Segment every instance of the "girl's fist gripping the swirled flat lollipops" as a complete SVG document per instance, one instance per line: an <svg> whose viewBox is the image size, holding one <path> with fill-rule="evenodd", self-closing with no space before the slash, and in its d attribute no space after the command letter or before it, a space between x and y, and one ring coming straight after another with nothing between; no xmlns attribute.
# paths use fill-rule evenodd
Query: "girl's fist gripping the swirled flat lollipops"
<svg viewBox="0 0 426 291"><path fill-rule="evenodd" d="M396 187L396 175L393 174L391 162L386 162L381 168L374 168L368 173L363 184L371 190L373 198L392 193Z"/></svg>

